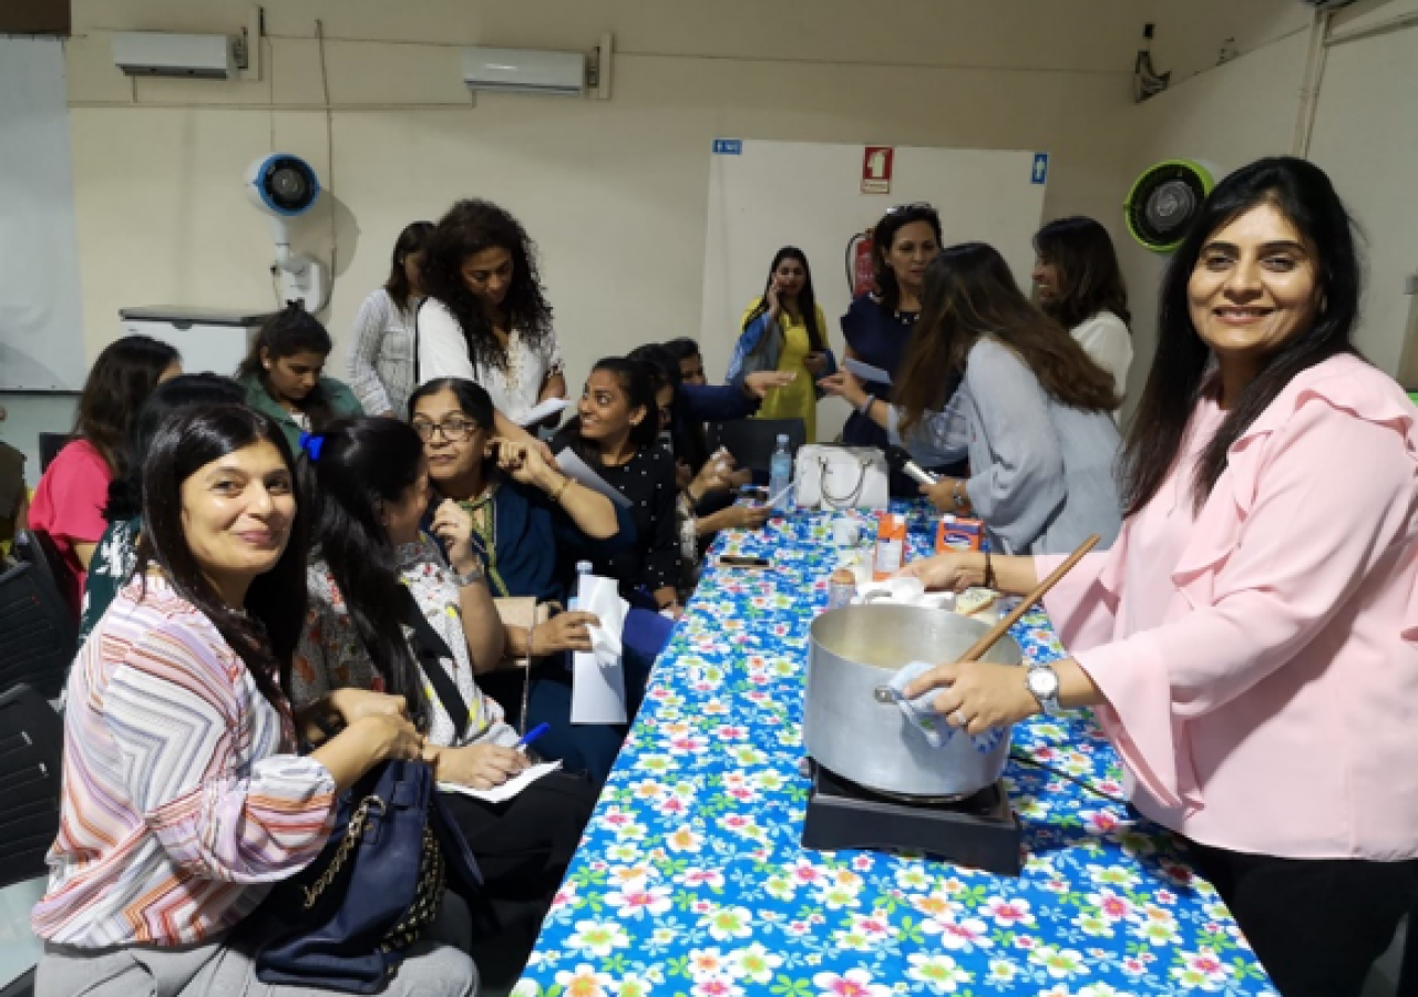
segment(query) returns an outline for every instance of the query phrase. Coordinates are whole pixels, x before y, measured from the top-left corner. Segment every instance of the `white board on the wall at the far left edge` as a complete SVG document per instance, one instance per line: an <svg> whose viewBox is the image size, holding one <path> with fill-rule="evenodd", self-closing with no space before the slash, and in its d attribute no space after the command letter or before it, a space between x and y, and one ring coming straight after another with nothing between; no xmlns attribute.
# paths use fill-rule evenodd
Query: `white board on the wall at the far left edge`
<svg viewBox="0 0 1418 997"><path fill-rule="evenodd" d="M0 390L75 390L85 367L64 47L0 37Z"/></svg>

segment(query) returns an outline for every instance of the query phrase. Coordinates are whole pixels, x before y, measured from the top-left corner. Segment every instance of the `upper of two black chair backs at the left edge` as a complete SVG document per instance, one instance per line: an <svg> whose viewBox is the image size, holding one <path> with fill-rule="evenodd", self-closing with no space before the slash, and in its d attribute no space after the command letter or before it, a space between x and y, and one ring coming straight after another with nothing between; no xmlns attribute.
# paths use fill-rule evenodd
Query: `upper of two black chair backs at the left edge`
<svg viewBox="0 0 1418 997"><path fill-rule="evenodd" d="M77 647L74 616L43 569L20 560L0 574L0 692L27 684L57 699Z"/></svg>

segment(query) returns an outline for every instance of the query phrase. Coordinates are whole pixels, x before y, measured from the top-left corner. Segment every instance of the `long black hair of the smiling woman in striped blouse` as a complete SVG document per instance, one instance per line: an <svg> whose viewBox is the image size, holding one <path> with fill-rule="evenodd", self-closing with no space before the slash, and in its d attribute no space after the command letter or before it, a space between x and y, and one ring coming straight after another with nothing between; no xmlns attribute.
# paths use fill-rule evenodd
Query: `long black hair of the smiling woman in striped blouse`
<svg viewBox="0 0 1418 997"><path fill-rule="evenodd" d="M143 533L138 569L162 567L179 596L211 620L240 655L261 695L286 713L291 662L305 625L305 552L309 513L296 502L295 519L279 560L247 589L244 607L223 601L201 573L183 528L182 485L227 454L259 442L275 447L295 477L295 458L275 421L247 406L190 406L174 411L153 434L143 459Z"/></svg>

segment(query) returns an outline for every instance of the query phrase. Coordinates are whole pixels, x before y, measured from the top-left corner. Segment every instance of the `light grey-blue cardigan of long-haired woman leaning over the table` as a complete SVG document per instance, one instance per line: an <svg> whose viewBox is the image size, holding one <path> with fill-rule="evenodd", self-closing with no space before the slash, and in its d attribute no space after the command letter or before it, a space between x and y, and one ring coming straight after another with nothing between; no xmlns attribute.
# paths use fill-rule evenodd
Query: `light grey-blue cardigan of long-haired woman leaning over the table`
<svg viewBox="0 0 1418 997"><path fill-rule="evenodd" d="M1071 553L1098 533L1099 550L1122 528L1116 462L1120 438L1109 413L1055 401L1007 346L981 339L943 411L926 413L909 440L893 406L891 441L922 464L970 458L970 502L995 550L1011 555Z"/></svg>

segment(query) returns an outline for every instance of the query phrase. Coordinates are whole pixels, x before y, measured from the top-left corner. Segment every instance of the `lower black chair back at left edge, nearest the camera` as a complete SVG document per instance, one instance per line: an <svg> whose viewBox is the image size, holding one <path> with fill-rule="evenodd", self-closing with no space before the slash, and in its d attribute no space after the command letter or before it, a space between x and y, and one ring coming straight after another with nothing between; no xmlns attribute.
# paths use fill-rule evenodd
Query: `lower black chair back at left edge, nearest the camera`
<svg viewBox="0 0 1418 997"><path fill-rule="evenodd" d="M62 757L64 723L44 696L27 685L0 694L0 889L48 872ZM0 997L33 993L33 969L0 988Z"/></svg>

